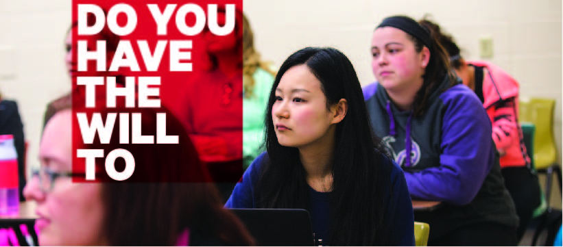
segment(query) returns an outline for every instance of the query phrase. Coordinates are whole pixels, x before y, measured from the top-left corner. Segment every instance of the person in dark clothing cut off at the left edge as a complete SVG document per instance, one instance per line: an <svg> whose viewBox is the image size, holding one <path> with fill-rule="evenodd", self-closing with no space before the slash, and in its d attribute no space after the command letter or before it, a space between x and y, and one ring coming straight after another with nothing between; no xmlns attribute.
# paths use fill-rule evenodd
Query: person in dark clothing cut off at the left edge
<svg viewBox="0 0 563 247"><path fill-rule="evenodd" d="M14 146L18 155L18 174L19 174L19 198L20 201L25 200L23 197L23 187L25 186L25 164L23 157L25 155L25 135L23 134L23 123L18 110L16 101L8 101L2 98L0 93L0 135L13 135Z"/></svg>

